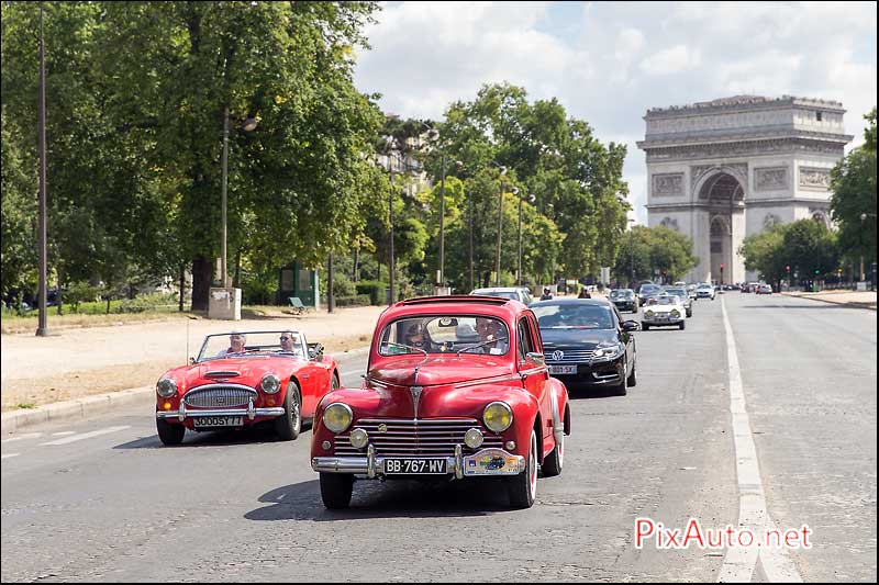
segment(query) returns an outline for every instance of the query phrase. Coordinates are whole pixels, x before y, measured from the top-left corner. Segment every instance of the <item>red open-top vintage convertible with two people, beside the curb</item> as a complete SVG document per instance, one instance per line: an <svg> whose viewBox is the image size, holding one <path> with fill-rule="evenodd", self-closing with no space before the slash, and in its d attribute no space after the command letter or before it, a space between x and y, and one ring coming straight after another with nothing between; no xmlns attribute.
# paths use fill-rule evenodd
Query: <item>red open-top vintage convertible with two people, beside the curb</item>
<svg viewBox="0 0 879 585"><path fill-rule="evenodd" d="M282 440L299 436L302 419L338 387L338 370L323 346L299 331L209 335L198 358L162 374L156 384L156 429L180 445L186 429L218 430L274 424Z"/></svg>

